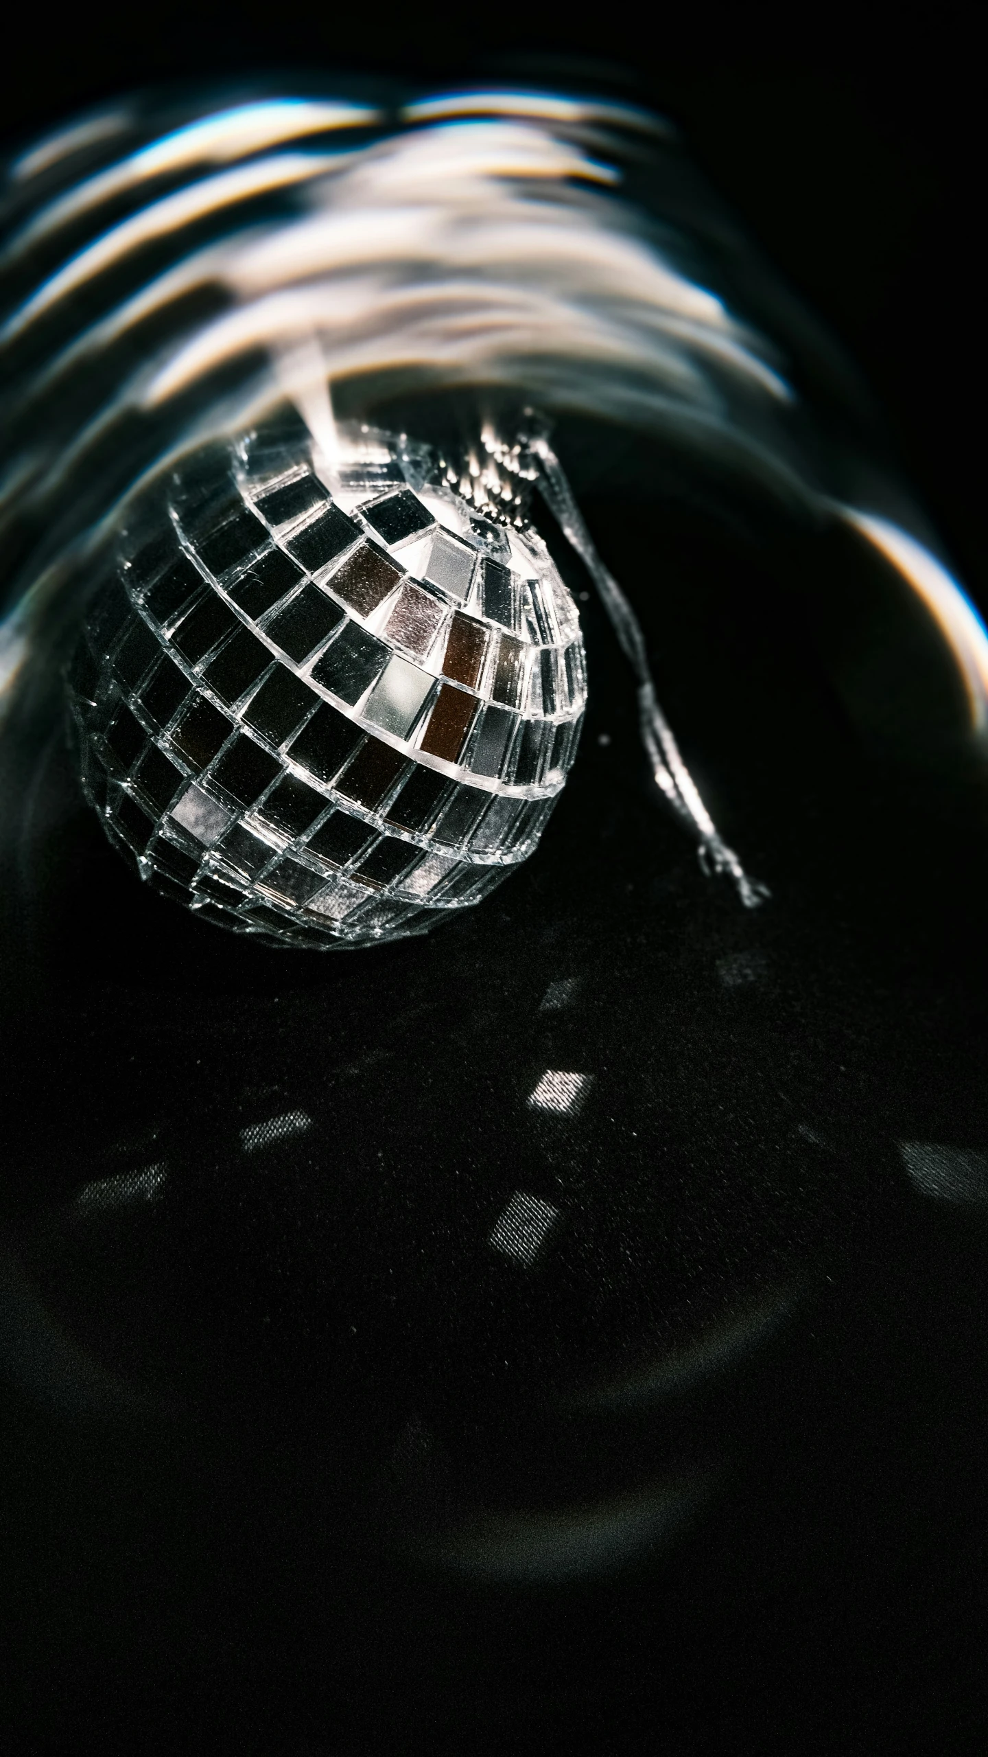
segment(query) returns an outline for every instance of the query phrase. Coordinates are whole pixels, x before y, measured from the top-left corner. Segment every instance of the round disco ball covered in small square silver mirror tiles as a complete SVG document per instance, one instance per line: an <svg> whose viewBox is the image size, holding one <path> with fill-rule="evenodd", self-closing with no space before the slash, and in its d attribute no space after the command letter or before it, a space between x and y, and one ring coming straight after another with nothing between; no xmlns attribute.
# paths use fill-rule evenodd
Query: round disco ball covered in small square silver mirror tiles
<svg viewBox="0 0 988 1757"><path fill-rule="evenodd" d="M493 891L539 842L586 699L532 525L479 515L404 436L337 439L326 469L272 420L146 492L68 669L111 842L276 945L404 938Z"/></svg>

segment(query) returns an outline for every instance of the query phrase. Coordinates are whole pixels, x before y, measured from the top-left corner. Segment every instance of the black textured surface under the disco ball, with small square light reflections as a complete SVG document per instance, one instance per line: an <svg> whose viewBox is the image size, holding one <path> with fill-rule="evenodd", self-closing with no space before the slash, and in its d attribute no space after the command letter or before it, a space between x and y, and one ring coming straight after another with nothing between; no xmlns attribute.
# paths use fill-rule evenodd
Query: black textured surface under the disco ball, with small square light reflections
<svg viewBox="0 0 988 1757"><path fill-rule="evenodd" d="M130 878L60 733L5 777L14 1750L983 1736L949 669L848 538L584 504L621 578L658 517L660 694L760 912L656 812L593 603L544 843L425 942L244 949Z"/></svg>

